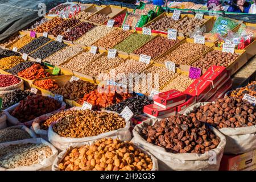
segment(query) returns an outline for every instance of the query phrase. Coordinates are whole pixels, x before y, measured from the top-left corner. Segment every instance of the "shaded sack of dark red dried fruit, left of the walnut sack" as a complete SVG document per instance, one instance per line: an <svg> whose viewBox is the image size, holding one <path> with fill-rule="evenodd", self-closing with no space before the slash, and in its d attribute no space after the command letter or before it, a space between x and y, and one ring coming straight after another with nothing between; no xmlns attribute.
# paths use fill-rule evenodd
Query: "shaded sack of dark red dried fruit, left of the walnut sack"
<svg viewBox="0 0 256 182"><path fill-rule="evenodd" d="M60 110L64 110L65 107L65 102L60 104L54 98L34 94L9 107L4 112L7 116L7 121L12 125L30 127L35 118L47 113L57 113Z"/></svg>

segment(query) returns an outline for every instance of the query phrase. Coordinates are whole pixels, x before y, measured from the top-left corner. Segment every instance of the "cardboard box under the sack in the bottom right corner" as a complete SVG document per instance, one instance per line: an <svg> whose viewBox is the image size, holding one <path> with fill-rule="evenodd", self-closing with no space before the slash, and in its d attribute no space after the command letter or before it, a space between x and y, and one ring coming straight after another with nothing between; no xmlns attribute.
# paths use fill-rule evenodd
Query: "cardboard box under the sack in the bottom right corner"
<svg viewBox="0 0 256 182"><path fill-rule="evenodd" d="M256 150L240 155L223 155L220 171L253 171L256 169Z"/></svg>

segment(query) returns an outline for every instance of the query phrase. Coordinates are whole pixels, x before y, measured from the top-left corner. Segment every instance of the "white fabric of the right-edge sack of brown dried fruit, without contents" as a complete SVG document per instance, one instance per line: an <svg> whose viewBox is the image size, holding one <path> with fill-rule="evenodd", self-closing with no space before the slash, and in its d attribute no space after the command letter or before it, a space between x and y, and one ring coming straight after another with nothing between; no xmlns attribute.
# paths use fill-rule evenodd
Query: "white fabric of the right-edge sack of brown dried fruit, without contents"
<svg viewBox="0 0 256 182"><path fill-rule="evenodd" d="M185 114L197 107L204 106L209 102L199 102L185 110ZM214 102L213 102L214 103ZM256 148L256 125L247 127L219 129L226 137L226 147L224 154L243 154Z"/></svg>

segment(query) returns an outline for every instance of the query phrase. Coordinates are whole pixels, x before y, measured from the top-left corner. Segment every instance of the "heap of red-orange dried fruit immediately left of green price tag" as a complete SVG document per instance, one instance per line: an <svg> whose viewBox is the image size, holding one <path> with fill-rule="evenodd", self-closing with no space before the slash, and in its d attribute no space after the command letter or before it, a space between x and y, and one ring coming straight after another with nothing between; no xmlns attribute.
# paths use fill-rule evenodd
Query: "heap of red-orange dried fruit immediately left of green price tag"
<svg viewBox="0 0 256 182"><path fill-rule="evenodd" d="M35 80L37 78L46 78L51 75L49 72L46 72L44 67L42 67L40 64L33 64L31 67L24 69L22 72L19 72L18 76L28 80Z"/></svg>

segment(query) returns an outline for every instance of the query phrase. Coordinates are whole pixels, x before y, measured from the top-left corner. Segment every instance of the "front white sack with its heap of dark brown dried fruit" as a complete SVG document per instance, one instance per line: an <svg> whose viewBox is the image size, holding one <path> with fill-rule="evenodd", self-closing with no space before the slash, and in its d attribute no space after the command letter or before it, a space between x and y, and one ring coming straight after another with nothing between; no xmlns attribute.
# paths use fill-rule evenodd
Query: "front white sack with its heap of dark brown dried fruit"
<svg viewBox="0 0 256 182"><path fill-rule="evenodd" d="M218 170L226 144L214 127L180 114L148 119L133 135L132 142L158 159L159 170Z"/></svg>

